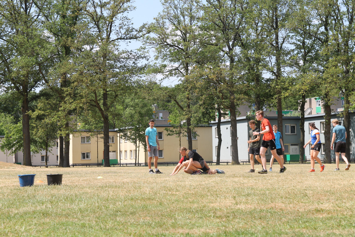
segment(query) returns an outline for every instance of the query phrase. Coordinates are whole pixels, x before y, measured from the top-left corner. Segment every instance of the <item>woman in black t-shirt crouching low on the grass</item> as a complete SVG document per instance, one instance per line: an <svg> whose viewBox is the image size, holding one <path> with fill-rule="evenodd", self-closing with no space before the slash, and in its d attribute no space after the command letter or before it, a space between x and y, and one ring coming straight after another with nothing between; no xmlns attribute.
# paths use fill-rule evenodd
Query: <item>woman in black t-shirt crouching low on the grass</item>
<svg viewBox="0 0 355 237"><path fill-rule="evenodd" d="M184 172L189 174L201 174L201 171L198 169L202 169L202 171L207 172L208 174L224 174L222 169L210 169L203 160L202 156L200 156L196 151L187 150L186 147L180 148L180 154L184 156L184 162L182 163L185 168Z"/></svg>

